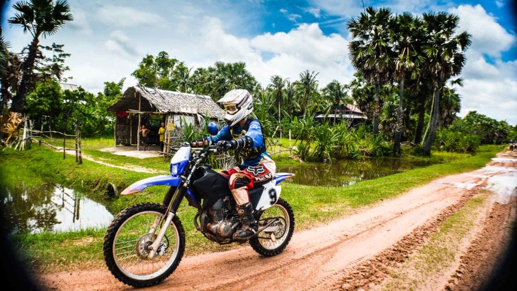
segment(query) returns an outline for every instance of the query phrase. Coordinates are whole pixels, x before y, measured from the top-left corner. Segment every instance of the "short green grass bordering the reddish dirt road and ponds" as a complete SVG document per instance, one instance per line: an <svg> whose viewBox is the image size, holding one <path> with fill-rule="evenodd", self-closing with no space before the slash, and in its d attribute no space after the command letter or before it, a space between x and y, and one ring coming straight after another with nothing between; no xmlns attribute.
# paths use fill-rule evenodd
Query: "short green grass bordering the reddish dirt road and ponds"
<svg viewBox="0 0 517 291"><path fill-rule="evenodd" d="M296 217L296 230L307 229L315 225L324 224L332 219L346 215L362 206L371 205L382 199L388 199L404 193L412 187L430 182L433 179L448 174L459 173L484 166L495 153L503 150L498 146L483 146L476 155L435 153L433 158L450 161L436 164L426 168L408 170L402 173L386 176L374 180L358 182L347 187L316 187L282 183L282 197L289 201L294 209ZM128 159L109 153L98 152L98 157L113 163L135 163L136 165L151 168L150 164L156 163L156 167L166 165L163 161L145 161L142 159ZM105 156L104 156L105 155ZM161 158L160 158L161 159ZM283 163L284 158L279 159ZM291 163L291 162L290 162ZM151 201L161 203L165 186L146 188L145 191L128 196L120 196L116 199L107 199L103 191L107 183L114 183L119 190L129 184L155 176L155 174L128 171L95 162L83 160L82 165L75 163L75 159L63 159L60 153L42 147L35 147L29 151L12 151L6 149L0 151L0 186L12 184L13 181L25 182L31 185L31 181L49 181L73 185L76 190L81 190L90 199L105 205L114 215L120 210L134 203ZM34 177L36 180L33 180ZM35 183L33 183L35 185ZM187 234L187 255L226 250L235 245L219 246L208 241L194 229L193 217L195 209L187 207L186 201L178 210ZM19 249L27 256L34 266L45 266L47 271L81 268L83 263L90 265L102 265L102 239L105 230L85 230L66 234L37 234L20 235L16 240ZM74 240L86 240L87 243L74 244ZM91 240L91 241L90 241ZM77 254L86 253L86 256ZM51 268L47 268L51 266Z"/></svg>

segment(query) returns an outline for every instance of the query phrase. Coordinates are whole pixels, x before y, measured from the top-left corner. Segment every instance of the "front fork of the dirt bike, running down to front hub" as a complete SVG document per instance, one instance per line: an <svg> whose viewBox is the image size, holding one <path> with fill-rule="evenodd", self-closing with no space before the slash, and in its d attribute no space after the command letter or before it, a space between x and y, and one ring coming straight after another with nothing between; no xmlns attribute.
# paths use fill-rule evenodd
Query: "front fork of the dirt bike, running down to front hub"
<svg viewBox="0 0 517 291"><path fill-rule="evenodd" d="M161 244L163 237L165 236L165 232L169 228L169 225L171 225L172 219L174 218L174 215L176 215L176 211L178 210L181 200L183 199L183 196L185 196L186 193L186 185L180 184L180 186L176 188L176 191L172 196L171 202L169 203L169 207L165 211L165 222L164 224L162 223L162 228L160 229L160 232L158 232L158 236L156 237L153 244L147 246L147 249L149 250L149 254L147 255L148 259L153 259L156 256L156 252ZM162 221L162 219L160 217L156 217L153 225L151 226L151 229L149 230L149 234L154 234L156 229L158 229L160 221Z"/></svg>

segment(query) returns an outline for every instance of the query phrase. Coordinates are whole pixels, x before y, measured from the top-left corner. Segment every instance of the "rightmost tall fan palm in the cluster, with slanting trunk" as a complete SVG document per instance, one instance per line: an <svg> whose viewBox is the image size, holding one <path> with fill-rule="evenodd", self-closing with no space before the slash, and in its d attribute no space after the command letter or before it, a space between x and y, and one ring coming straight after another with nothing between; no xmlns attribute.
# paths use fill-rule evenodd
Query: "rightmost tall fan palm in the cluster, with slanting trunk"
<svg viewBox="0 0 517 291"><path fill-rule="evenodd" d="M427 70L434 86L433 114L431 116L431 130L424 144L424 152L431 154L431 146L434 142L438 127L440 88L445 82L460 74L465 64L463 51L470 45L470 34L463 32L454 35L460 18L447 12L424 13L423 19L428 27L429 38L424 45L424 53L428 61Z"/></svg>

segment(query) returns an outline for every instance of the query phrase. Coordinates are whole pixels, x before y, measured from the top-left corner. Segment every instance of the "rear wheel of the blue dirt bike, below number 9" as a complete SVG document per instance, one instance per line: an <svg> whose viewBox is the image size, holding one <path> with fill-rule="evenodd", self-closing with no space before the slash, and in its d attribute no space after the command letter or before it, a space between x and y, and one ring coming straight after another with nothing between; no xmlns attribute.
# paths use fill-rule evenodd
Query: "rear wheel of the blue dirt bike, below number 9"
<svg viewBox="0 0 517 291"><path fill-rule="evenodd" d="M270 257L280 254L293 236L293 209L282 198L266 209L258 221L258 229L264 228L258 237L251 238L250 244L257 253Z"/></svg>

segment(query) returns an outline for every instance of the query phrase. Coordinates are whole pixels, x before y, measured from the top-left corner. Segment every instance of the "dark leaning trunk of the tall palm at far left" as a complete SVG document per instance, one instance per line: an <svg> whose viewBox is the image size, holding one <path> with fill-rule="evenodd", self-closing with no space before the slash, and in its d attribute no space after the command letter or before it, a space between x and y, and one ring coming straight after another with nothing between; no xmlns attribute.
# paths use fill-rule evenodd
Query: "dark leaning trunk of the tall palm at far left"
<svg viewBox="0 0 517 291"><path fill-rule="evenodd" d="M38 53L38 43L39 38L34 38L29 46L27 59L23 62L23 76L20 82L20 88L17 90L16 96L12 99L12 112L24 112L25 97L27 96L29 85L32 82L34 63Z"/></svg>

